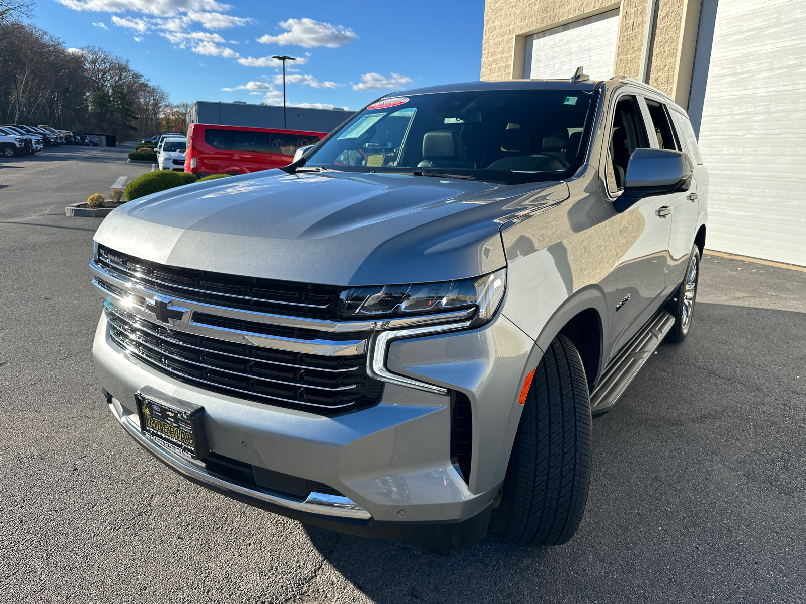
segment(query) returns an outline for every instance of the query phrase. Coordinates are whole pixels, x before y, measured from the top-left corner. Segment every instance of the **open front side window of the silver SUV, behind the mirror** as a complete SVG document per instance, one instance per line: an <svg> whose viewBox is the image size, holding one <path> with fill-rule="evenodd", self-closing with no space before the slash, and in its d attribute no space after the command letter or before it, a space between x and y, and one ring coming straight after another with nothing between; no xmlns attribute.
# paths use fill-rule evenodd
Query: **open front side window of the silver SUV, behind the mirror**
<svg viewBox="0 0 806 604"><path fill-rule="evenodd" d="M649 146L638 101L633 96L621 97L613 110L613 125L610 127L605 167L611 195L617 195L624 188L629 156L633 155L636 149Z"/></svg>

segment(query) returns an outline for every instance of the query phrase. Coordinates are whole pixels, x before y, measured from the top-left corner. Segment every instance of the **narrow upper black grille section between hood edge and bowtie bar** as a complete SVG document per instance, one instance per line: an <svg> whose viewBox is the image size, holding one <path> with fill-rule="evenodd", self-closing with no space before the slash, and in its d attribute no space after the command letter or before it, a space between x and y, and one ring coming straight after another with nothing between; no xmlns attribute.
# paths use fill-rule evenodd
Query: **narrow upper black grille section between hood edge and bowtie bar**
<svg viewBox="0 0 806 604"><path fill-rule="evenodd" d="M127 282L183 300L244 308L258 312L333 318L342 288L317 283L294 283L223 275L210 271L169 267L98 246L100 267Z"/></svg>

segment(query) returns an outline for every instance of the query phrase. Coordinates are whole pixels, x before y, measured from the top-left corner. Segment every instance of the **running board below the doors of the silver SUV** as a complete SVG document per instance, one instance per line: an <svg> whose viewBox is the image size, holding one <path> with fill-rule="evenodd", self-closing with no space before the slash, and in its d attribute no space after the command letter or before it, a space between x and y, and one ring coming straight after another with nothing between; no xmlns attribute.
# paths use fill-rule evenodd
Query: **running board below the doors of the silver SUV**
<svg viewBox="0 0 806 604"><path fill-rule="evenodd" d="M605 368L599 385L591 393L591 412L594 416L612 409L621 394L638 374L638 370L649 360L659 344L675 325L675 317L665 310L659 310L619 351L616 358Z"/></svg>

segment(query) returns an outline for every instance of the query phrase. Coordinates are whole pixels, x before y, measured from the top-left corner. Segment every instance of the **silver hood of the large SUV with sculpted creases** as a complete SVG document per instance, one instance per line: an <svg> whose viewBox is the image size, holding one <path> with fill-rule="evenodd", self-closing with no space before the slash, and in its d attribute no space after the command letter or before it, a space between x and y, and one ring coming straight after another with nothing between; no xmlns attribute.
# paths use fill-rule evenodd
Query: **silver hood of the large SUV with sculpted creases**
<svg viewBox="0 0 806 604"><path fill-rule="evenodd" d="M270 170L132 201L106 217L95 240L233 275L343 286L442 281L503 267L501 224L567 197L556 181Z"/></svg>

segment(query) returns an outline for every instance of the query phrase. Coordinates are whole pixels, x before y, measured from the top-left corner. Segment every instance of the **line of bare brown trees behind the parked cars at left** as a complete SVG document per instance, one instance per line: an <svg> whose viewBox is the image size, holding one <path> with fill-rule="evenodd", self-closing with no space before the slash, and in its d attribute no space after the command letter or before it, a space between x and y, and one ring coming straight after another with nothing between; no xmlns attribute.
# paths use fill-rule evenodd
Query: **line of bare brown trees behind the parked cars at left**
<svg viewBox="0 0 806 604"><path fill-rule="evenodd" d="M118 141L186 130L188 104L102 48L64 42L23 21L31 4L0 0L0 123L114 134Z"/></svg>

